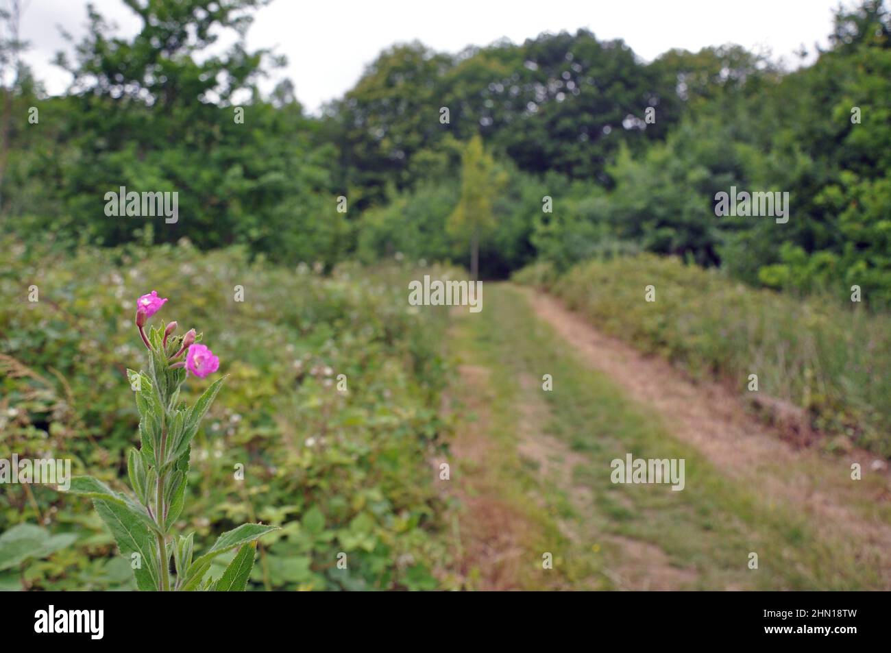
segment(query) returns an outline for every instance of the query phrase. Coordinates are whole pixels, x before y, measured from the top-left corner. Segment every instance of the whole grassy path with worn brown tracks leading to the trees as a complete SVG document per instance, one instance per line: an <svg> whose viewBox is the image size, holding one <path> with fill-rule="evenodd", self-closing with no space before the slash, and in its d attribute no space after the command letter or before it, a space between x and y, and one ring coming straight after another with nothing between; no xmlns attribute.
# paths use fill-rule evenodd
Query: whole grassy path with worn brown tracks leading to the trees
<svg viewBox="0 0 891 653"><path fill-rule="evenodd" d="M846 466L838 472L782 448L773 463L740 457L734 464L732 455L715 455L691 436L695 423L676 419L632 384L636 378L645 386L641 375L661 383L680 377L656 376L656 367L637 359L618 374L609 364L633 354L604 342L592 349L597 332L581 322L570 329L568 315L548 302L486 283L481 313L455 309L448 347L459 364L451 410L461 422L449 488L461 503L453 550L463 586L887 588L888 553L869 543L885 532L887 515L855 501L839 480ZM542 387L544 374L552 375L552 391ZM672 396L668 388L660 392ZM743 447L740 456L751 443ZM614 485L609 463L626 453L684 459L683 491ZM814 487L831 496L814 499L806 491ZM862 487L867 494L882 489ZM810 508L802 496L810 497ZM835 520L833 506L842 510ZM757 569L748 567L751 552ZM552 568L543 568L549 554Z"/></svg>

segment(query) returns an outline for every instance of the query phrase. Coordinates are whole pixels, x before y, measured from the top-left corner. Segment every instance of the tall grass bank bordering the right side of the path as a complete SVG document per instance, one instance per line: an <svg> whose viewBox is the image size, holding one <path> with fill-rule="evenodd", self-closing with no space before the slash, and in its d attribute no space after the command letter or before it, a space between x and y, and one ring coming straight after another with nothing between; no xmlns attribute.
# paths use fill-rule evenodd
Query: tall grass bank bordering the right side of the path
<svg viewBox="0 0 891 653"><path fill-rule="evenodd" d="M809 412L814 428L891 456L891 318L860 304L756 290L676 258L639 255L541 266L516 280L552 290L604 331L694 376L731 380ZM656 289L647 302L645 288Z"/></svg>

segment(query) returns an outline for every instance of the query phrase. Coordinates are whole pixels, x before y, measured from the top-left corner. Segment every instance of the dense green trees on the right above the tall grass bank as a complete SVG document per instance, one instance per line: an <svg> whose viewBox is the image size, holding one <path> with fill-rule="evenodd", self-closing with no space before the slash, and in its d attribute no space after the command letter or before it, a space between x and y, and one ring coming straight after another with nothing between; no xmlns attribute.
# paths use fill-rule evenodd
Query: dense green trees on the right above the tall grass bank
<svg viewBox="0 0 891 653"><path fill-rule="evenodd" d="M715 83L707 61L680 73L699 100L665 143L608 168L616 188L602 219L643 249L748 283L838 298L857 284L871 306L891 306L889 15L871 1L838 12L836 46L788 75L743 53L721 71L732 83ZM664 65L681 66L679 56ZM789 223L715 217L715 192L732 185L789 192Z"/></svg>

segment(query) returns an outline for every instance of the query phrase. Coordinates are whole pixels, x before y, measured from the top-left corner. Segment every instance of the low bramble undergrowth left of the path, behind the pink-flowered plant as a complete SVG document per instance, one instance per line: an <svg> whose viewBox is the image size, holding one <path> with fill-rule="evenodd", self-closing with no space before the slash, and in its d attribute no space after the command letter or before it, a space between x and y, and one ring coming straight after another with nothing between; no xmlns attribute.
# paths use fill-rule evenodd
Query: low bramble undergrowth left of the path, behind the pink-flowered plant
<svg viewBox="0 0 891 653"><path fill-rule="evenodd" d="M0 458L52 451L71 459L74 474L102 482L107 491L88 487L109 510L140 502L140 487L153 484L141 480L148 464L127 471L140 460L132 452L142 415L127 364L145 351L130 311L146 289L163 290L171 300L162 311L176 306L180 324L212 331L226 373L225 404L210 405L207 427L192 437L184 507L171 529L193 533L193 545L168 543L175 564L190 549L199 559L242 522L263 521L281 530L263 537L248 589L438 584L442 504L429 459L448 429L439 417L447 369L437 344L446 312L405 311L407 282L419 271L342 265L327 277L307 265L251 262L243 249L201 254L186 242L72 257L10 237L3 248L14 257L0 271ZM38 302L29 303L22 280L38 284ZM233 301L236 284L244 302ZM340 373L347 392L337 388ZM210 386L190 377L180 401L192 406ZM153 388L151 379L142 387ZM148 426L142 437L151 442ZM233 478L238 464L243 481ZM134 494L119 492L128 478ZM0 531L49 518L53 534L81 536L29 563L27 586L135 587L130 558L86 502L50 486L30 489L34 503L20 486L0 495ZM151 530L144 513L127 515L132 529ZM347 569L335 565L340 551ZM238 555L211 559L208 588Z"/></svg>

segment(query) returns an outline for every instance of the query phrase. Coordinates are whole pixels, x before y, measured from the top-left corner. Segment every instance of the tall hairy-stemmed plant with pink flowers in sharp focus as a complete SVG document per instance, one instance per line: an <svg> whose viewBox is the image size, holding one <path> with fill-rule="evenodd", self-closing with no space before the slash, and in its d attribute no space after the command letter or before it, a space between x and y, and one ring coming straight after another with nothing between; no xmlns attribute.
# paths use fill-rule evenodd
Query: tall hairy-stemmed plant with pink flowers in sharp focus
<svg viewBox="0 0 891 653"><path fill-rule="evenodd" d="M167 298L154 290L136 302L136 328L149 352L148 372L127 370L139 410L141 446L127 456L127 471L135 496L115 492L92 477L71 479L69 492L93 499L122 554L130 558L136 586L143 591L241 591L254 564L254 547L274 526L242 524L220 535L208 551L192 555L193 533L174 538L171 527L183 512L192 437L224 379L208 386L192 407L179 401L186 377L207 377L219 368L219 358L199 344L194 329L174 335L176 322L145 331L148 319ZM213 559L238 549L216 581L205 580ZM171 583L170 560L175 578Z"/></svg>

